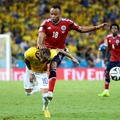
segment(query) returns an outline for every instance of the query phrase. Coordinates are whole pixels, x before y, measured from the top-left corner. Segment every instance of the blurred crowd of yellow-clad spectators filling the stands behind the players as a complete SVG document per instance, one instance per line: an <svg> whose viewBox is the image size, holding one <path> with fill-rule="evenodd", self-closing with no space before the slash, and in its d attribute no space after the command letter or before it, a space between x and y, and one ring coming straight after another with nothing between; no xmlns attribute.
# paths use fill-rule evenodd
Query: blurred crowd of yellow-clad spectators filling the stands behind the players
<svg viewBox="0 0 120 120"><path fill-rule="evenodd" d="M0 34L11 35L13 67L24 67L24 52L36 45L39 26L49 17L53 4L61 5L62 17L81 26L97 25L106 20L109 25L120 25L119 0L0 0ZM109 28L82 34L71 31L66 45L80 66L65 58L60 67L101 67L100 61L96 62L98 47L109 32Z"/></svg>

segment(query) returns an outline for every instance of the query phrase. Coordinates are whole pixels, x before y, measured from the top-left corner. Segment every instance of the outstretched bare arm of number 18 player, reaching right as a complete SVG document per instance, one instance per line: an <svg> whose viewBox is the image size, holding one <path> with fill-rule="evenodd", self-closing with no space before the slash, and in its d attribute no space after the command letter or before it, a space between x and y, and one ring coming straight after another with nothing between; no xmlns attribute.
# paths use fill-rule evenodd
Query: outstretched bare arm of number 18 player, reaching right
<svg viewBox="0 0 120 120"><path fill-rule="evenodd" d="M96 25L96 26L80 26L78 28L78 31L81 32L81 33L91 32L91 31L100 29L104 26L107 26L107 24L108 23L102 23L102 24L99 24L99 25Z"/></svg>

